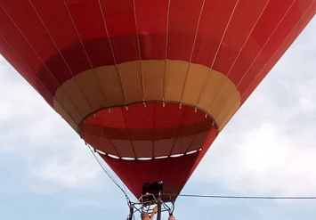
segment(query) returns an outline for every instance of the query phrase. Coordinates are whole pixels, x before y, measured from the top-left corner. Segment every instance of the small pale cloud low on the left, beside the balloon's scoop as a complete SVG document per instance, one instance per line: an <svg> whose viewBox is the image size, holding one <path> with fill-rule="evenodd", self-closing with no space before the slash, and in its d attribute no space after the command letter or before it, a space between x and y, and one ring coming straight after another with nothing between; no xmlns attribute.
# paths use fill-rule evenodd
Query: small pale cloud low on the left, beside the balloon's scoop
<svg viewBox="0 0 316 220"><path fill-rule="evenodd" d="M45 157L35 155L36 159L29 162L31 175L68 188L95 187L98 176L103 175L101 168L93 162L88 150L71 148L72 151L66 151L68 153L59 149L53 154L45 152Z"/></svg>

